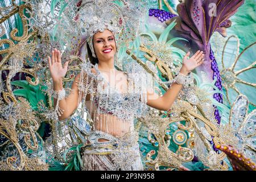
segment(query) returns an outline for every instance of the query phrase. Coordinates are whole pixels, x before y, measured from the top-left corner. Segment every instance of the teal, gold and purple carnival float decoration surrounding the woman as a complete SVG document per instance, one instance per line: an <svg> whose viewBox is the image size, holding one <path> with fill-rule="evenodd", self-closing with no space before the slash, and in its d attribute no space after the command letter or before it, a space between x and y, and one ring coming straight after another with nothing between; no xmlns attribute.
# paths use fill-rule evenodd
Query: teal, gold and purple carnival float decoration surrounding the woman
<svg viewBox="0 0 256 182"><path fill-rule="evenodd" d="M117 7L129 3L113 2ZM115 67L142 67L154 78L159 95L174 80L187 51L201 49L207 55L170 110L148 107L146 116L136 119L146 170L255 170L256 102L251 92L256 83L250 76L255 42L241 50L238 35L226 32L230 17L246 2L210 2L182 1L177 11L171 1L138 2L147 10L141 17L144 26L133 42L118 45ZM76 26L80 15L71 6L79 9L81 1L1 1L1 170L81 169L81 150L92 121L83 119L82 106L64 122L51 114L55 108L46 60L52 48L62 51L63 61L69 60L64 78L69 92L88 58L81 51L85 37ZM214 52L214 32L228 36L222 52ZM222 55L219 64L214 54ZM249 86L250 92L237 84Z"/></svg>

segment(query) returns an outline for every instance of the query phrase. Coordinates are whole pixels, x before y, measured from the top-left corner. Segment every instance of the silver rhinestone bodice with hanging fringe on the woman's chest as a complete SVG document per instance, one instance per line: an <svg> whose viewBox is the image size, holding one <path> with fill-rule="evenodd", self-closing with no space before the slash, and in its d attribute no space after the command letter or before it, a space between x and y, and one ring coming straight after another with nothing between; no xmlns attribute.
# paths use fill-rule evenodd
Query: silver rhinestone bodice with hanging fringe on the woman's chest
<svg viewBox="0 0 256 182"><path fill-rule="evenodd" d="M88 87L86 90L87 93L93 93L91 101L96 106L93 112L111 114L124 121L133 121L134 118L140 117L147 106L145 102L141 101L144 95L142 95L142 89L138 88L140 85L136 84L133 76L124 72L127 76L128 88L125 93L121 93L105 80L97 64L93 67L96 74L90 73L90 69L86 69L88 80L90 80L86 85ZM139 80L141 79L139 78ZM137 88L134 89L134 85L137 85Z"/></svg>

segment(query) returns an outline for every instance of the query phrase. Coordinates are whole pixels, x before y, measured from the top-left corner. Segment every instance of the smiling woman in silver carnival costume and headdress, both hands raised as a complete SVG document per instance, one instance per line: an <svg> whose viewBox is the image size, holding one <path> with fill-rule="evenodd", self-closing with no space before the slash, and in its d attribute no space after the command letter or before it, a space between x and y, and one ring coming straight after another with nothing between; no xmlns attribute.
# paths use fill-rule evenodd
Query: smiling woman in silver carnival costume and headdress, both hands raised
<svg viewBox="0 0 256 182"><path fill-rule="evenodd" d="M190 58L188 52L179 74L163 96L152 90L154 79L140 65L122 65L126 71L116 69L115 65L121 63L117 58L118 48L134 40L138 32L136 6L133 1L121 7L109 1L77 4L75 20L84 25L89 61L81 65L69 96L65 96L63 88L68 61L61 64L58 49L53 49L48 57L56 118L60 122L67 119L82 102L93 121L82 150L84 170L143 170L134 119L143 116L147 106L169 110L183 86L191 81L189 73L204 61L203 51Z"/></svg>

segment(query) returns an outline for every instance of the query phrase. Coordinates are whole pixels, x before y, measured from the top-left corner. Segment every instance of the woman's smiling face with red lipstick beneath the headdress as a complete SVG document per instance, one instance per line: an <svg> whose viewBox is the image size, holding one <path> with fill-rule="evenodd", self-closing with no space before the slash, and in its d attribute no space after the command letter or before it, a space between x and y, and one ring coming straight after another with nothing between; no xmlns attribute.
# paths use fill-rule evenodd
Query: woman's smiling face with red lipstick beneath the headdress
<svg viewBox="0 0 256 182"><path fill-rule="evenodd" d="M93 36L94 52L98 60L110 60L114 58L116 50L114 35L111 31L97 32Z"/></svg>

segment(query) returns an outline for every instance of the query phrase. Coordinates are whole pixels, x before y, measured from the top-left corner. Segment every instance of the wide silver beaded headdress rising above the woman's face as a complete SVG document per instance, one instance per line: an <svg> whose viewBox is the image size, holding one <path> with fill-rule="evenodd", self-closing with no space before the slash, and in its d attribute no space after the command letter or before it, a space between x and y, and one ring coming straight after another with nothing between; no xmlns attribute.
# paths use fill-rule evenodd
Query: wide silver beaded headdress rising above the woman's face
<svg viewBox="0 0 256 182"><path fill-rule="evenodd" d="M74 12L75 6L72 22L75 22L82 34L86 35L93 57L96 55L92 40L96 32L108 29L114 34L118 48L128 47L137 37L139 25L144 22L147 14L146 3L134 0L74 0L72 5L73 7L66 7L65 11L72 9ZM70 19L70 16L63 18Z"/></svg>

